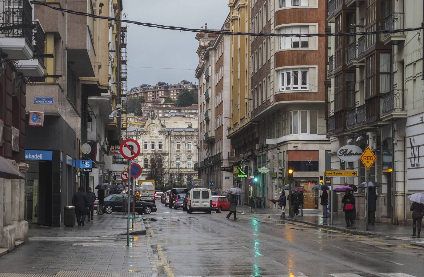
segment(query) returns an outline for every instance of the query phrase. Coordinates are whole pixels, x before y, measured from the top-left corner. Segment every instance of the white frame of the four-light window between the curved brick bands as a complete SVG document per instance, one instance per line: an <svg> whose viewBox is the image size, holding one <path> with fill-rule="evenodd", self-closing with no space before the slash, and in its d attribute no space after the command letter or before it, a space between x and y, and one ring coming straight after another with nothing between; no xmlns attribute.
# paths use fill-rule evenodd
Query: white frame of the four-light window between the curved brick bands
<svg viewBox="0 0 424 277"><path fill-rule="evenodd" d="M306 72L306 80L302 81L302 74ZM297 88L294 85L297 74ZM290 86L287 85L290 76ZM277 81L279 91L293 91L293 90L308 90L309 89L309 68L285 68L277 70ZM304 84L302 84L304 83Z"/></svg>

